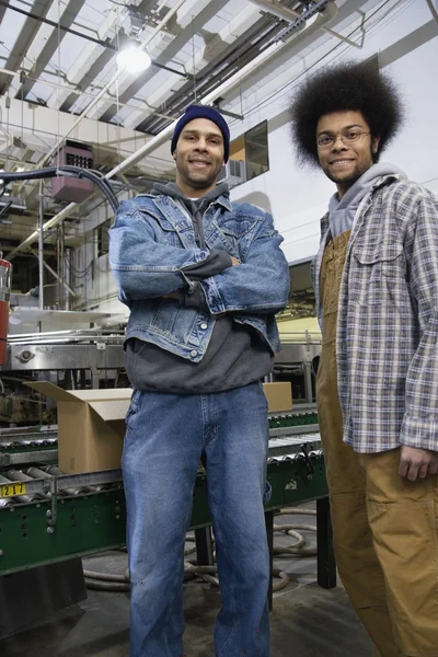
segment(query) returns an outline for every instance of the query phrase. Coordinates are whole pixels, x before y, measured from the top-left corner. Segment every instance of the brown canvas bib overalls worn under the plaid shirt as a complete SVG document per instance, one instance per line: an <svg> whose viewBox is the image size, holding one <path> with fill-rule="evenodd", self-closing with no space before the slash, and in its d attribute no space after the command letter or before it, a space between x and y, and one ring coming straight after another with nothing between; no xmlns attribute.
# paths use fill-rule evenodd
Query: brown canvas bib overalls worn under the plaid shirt
<svg viewBox="0 0 438 657"><path fill-rule="evenodd" d="M400 449L355 453L343 442L335 338L348 237L331 241L323 258L316 383L338 572L376 657L437 657L438 476L408 482Z"/></svg>

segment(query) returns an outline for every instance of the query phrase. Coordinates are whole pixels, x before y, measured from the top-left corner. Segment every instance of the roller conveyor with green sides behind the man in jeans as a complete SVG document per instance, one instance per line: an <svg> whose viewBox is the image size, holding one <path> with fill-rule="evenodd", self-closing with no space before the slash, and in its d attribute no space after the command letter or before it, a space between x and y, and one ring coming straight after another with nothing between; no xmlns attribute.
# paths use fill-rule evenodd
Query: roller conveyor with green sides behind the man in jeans
<svg viewBox="0 0 438 657"><path fill-rule="evenodd" d="M320 436L312 428L302 424L270 429L267 480L272 497L265 509L326 496ZM279 431L281 435L277 436ZM50 451L44 445L47 437L33 438L30 440L27 435L21 440L14 435L9 443L3 440L0 450L0 458L23 457L27 461L0 469L0 476L4 477L0 481L0 494L3 494L0 498L0 576L126 543L122 471L62 475L56 465L44 463L42 459L45 450ZM31 446L31 451L20 451L20 448L28 449L32 442L36 442L37 448ZM56 447L56 441L53 446ZM23 479L25 481L20 481ZM191 528L206 527L210 522L206 477L199 470Z"/></svg>

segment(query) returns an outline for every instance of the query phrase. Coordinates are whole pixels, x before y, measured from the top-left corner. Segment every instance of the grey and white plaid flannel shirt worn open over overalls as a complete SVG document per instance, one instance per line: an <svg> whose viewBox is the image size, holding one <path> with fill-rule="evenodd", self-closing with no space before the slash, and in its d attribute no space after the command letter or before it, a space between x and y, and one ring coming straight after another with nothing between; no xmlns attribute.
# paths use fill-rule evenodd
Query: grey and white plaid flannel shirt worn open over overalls
<svg viewBox="0 0 438 657"><path fill-rule="evenodd" d="M328 214L321 234L318 303ZM438 199L397 175L380 178L356 212L336 349L344 441L358 452L438 451Z"/></svg>

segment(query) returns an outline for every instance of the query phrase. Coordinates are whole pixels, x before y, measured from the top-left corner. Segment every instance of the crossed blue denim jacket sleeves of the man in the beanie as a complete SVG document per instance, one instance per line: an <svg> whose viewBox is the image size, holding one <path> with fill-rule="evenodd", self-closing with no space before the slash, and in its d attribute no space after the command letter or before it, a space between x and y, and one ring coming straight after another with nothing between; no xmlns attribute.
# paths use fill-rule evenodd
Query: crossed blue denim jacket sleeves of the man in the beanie
<svg viewBox="0 0 438 657"><path fill-rule="evenodd" d="M212 315L275 313L286 304L288 264L279 247L283 239L268 216L258 221L244 262L231 256L217 258L220 264L212 275L208 265L217 252L158 243L153 228L139 211L119 212L110 235L110 262L127 306L140 299L180 298L180 291L195 287L194 269ZM203 267L208 272L205 277Z"/></svg>

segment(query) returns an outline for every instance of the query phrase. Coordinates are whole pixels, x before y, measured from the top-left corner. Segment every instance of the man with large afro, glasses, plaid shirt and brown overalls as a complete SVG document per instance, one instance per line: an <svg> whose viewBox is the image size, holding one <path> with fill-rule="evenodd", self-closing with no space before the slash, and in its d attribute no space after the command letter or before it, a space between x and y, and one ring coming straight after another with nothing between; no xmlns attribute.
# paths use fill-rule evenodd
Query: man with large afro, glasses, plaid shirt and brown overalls
<svg viewBox="0 0 438 657"><path fill-rule="evenodd" d="M380 162L403 106L376 68L320 70L291 115L336 185L313 278L339 575L376 656L438 656L438 200Z"/></svg>

